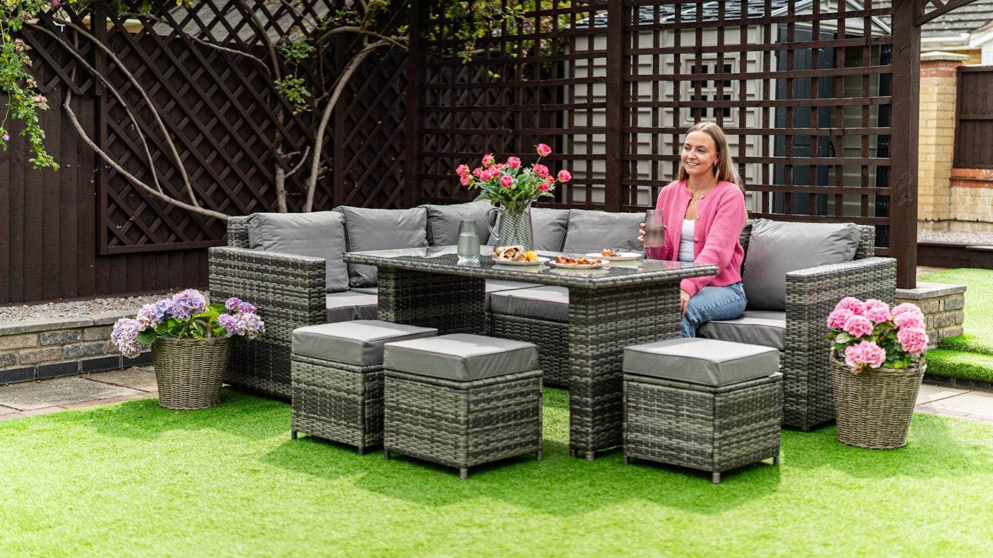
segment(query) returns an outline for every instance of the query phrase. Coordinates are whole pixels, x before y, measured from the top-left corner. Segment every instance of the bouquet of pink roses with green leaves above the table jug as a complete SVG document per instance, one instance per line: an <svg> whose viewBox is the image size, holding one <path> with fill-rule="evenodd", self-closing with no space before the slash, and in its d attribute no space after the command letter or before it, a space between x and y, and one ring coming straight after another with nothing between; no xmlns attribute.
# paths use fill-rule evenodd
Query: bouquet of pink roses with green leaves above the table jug
<svg viewBox="0 0 993 558"><path fill-rule="evenodd" d="M552 152L543 143L535 146L535 150L538 161ZM572 180L572 175L565 169L552 174L548 167L538 162L523 167L518 157L508 157L505 163L497 163L494 155L488 153L481 162L481 167L472 170L468 165L459 165L455 170L459 182L465 187L480 189L477 201L489 200L495 205L498 202L511 211L522 211L538 198L551 196L556 184Z"/></svg>

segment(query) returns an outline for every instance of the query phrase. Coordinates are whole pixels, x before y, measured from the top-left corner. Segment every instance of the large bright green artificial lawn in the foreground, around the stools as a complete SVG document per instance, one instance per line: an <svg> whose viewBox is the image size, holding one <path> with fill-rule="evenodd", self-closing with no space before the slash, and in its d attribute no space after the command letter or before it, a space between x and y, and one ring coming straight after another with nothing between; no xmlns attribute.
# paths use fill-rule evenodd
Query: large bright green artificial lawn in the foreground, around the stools
<svg viewBox="0 0 993 558"><path fill-rule="evenodd" d="M781 466L710 474L568 457L458 472L289 438L289 404L223 390L0 422L0 554L13 556L982 556L993 425L916 415L907 447L782 432ZM601 455L601 454L598 454Z"/></svg>

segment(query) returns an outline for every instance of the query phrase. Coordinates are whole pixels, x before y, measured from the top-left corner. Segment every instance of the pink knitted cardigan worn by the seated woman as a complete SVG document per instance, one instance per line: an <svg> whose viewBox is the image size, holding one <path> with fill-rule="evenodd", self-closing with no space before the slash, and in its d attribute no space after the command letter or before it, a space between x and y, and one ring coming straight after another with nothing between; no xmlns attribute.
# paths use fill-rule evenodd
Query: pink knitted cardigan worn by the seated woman
<svg viewBox="0 0 993 558"><path fill-rule="evenodd" d="M683 217L692 194L686 189L686 182L672 183L658 193L655 209L665 215L665 246L647 248L652 259L674 260L678 258L679 236ZM693 225L693 261L717 266L717 275L683 279L679 288L695 295L707 285L723 287L742 280L742 260L745 250L738 237L745 226L747 213L745 197L734 183L722 181L697 202L698 218Z"/></svg>

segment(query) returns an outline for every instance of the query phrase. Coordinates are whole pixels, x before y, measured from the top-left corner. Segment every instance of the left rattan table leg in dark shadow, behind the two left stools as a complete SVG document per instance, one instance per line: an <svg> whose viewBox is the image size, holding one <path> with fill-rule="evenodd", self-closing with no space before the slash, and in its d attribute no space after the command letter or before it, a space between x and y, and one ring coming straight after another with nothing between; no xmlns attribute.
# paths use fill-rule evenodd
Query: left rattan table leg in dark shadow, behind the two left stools
<svg viewBox="0 0 993 558"><path fill-rule="evenodd" d="M378 275L380 320L440 335L488 334L484 279L385 267Z"/></svg>

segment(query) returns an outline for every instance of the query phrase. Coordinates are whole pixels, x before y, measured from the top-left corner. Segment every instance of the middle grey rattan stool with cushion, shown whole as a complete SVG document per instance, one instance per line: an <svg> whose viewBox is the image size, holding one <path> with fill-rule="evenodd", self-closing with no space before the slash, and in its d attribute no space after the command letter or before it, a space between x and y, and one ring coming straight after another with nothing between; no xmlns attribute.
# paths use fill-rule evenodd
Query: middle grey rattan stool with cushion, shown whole
<svg viewBox="0 0 993 558"><path fill-rule="evenodd" d="M383 457L469 468L530 452L541 460L534 344L453 334L386 344Z"/></svg>

